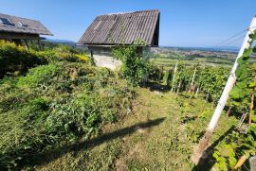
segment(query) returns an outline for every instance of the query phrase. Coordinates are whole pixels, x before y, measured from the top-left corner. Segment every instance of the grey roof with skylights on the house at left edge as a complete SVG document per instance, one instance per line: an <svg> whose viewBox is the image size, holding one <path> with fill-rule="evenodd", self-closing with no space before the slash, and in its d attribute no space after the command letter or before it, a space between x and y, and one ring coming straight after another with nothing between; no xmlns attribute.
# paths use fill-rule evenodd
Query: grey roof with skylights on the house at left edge
<svg viewBox="0 0 256 171"><path fill-rule="evenodd" d="M0 22L0 31L49 35L49 36L53 35L46 28L46 26L43 26L39 21L10 16L10 15L6 15L6 14L2 14L2 13L0 13L0 18L8 19L12 24L12 25L7 25L7 24L2 24ZM23 24L23 25L21 25L21 24Z"/></svg>

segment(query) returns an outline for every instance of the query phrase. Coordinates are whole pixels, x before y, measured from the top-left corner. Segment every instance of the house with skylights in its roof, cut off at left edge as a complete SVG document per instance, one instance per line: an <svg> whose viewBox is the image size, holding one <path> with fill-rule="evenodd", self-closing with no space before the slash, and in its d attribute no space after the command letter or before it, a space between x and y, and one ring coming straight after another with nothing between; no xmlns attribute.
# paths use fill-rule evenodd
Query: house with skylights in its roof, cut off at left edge
<svg viewBox="0 0 256 171"><path fill-rule="evenodd" d="M40 45L40 40L45 39L40 35L52 36L39 21L0 13L0 40L26 45L27 41L36 41Z"/></svg>

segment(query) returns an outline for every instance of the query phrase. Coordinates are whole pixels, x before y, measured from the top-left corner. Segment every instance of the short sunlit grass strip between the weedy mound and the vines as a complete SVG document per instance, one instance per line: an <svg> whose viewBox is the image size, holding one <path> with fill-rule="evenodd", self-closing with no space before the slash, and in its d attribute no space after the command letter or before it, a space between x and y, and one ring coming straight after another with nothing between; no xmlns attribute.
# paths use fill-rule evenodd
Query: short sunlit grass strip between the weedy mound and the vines
<svg viewBox="0 0 256 171"><path fill-rule="evenodd" d="M38 170L191 170L190 156L210 120L212 104L172 93L137 89L133 113L103 128L101 136L46 156ZM232 125L221 117L211 143ZM211 162L209 160L209 165Z"/></svg>

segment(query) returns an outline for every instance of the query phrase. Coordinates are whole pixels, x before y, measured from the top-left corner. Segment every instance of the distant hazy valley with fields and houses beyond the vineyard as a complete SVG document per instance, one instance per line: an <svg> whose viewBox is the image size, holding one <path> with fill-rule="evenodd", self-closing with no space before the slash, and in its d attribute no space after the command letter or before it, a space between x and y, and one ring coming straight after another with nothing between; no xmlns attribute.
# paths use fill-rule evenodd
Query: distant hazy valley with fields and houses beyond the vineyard
<svg viewBox="0 0 256 171"><path fill-rule="evenodd" d="M226 49L226 48L223 48ZM190 47L155 47L152 49L155 58L152 59L158 66L170 67L177 60L182 60L187 65L200 63L205 66L232 66L238 50L222 50L214 48ZM251 55L251 62L255 62L255 54Z"/></svg>

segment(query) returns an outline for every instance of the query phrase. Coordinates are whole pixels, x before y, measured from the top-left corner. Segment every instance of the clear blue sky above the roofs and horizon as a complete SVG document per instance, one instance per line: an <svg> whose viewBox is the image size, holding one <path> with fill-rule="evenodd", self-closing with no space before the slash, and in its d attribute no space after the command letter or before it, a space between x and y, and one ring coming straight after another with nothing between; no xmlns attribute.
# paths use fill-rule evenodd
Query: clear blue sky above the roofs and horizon
<svg viewBox="0 0 256 171"><path fill-rule="evenodd" d="M256 0L0 0L1 13L39 20L51 39L74 42L98 15L159 9L159 45L184 47L218 45L245 30L255 8Z"/></svg>

